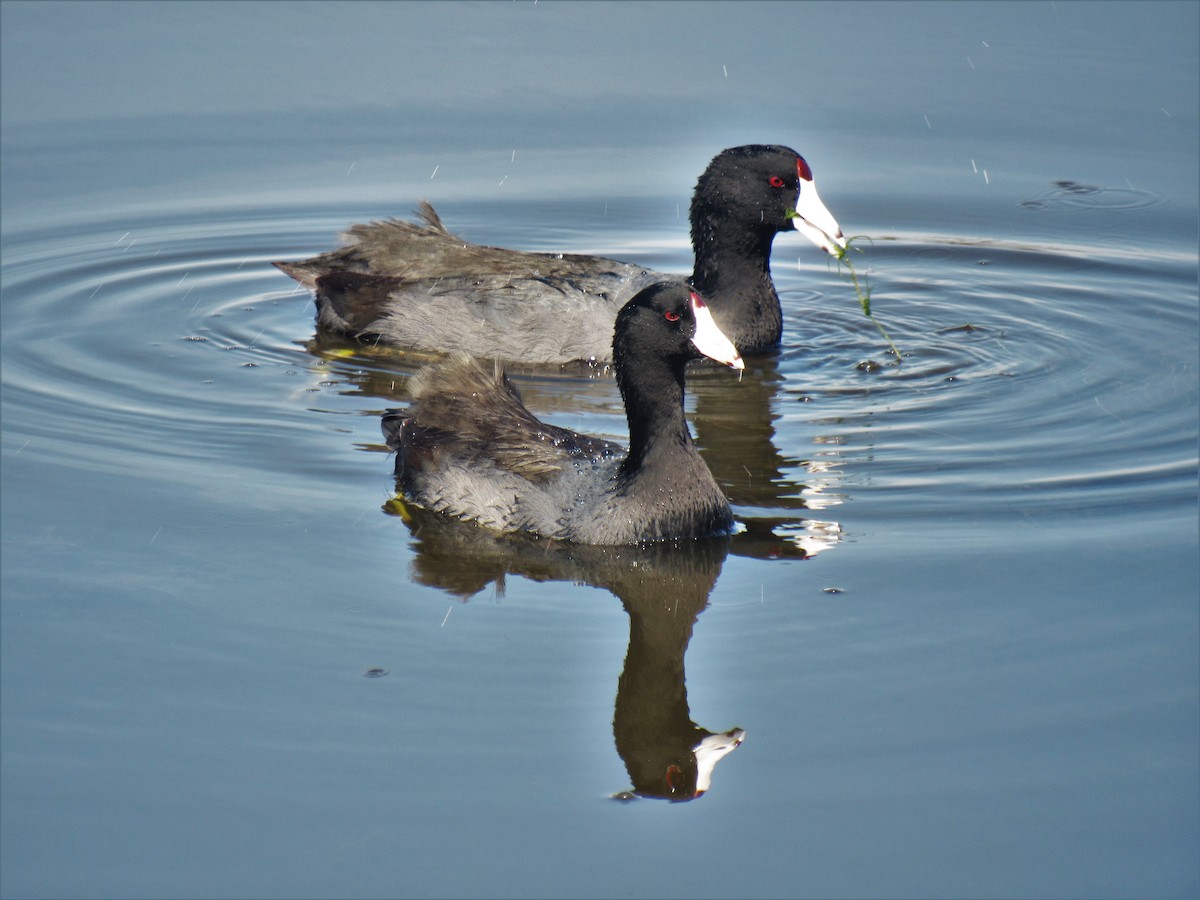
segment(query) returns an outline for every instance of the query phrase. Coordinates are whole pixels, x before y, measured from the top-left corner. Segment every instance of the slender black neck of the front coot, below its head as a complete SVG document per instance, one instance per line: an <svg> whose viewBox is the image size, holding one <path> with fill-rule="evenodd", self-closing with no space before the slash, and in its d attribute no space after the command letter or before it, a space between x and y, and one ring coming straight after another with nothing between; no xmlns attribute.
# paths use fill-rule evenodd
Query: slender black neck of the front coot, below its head
<svg viewBox="0 0 1200 900"><path fill-rule="evenodd" d="M653 470L660 460L695 455L683 414L686 360L625 356L617 364L617 384L629 420L629 455L622 478L635 479ZM667 473L670 474L670 473Z"/></svg>

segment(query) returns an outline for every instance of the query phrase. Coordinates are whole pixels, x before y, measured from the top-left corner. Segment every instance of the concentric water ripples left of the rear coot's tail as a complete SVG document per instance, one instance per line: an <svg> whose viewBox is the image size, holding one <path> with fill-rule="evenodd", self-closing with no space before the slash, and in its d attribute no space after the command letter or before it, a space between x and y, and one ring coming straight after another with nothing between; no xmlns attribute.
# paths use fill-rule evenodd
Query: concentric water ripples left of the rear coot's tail
<svg viewBox="0 0 1200 900"><path fill-rule="evenodd" d="M192 463L202 480L218 461L286 466L262 452L278 442L265 422L311 428L286 398L318 378L307 296L268 265L289 227L256 214L6 233L6 451L172 478Z"/></svg>

